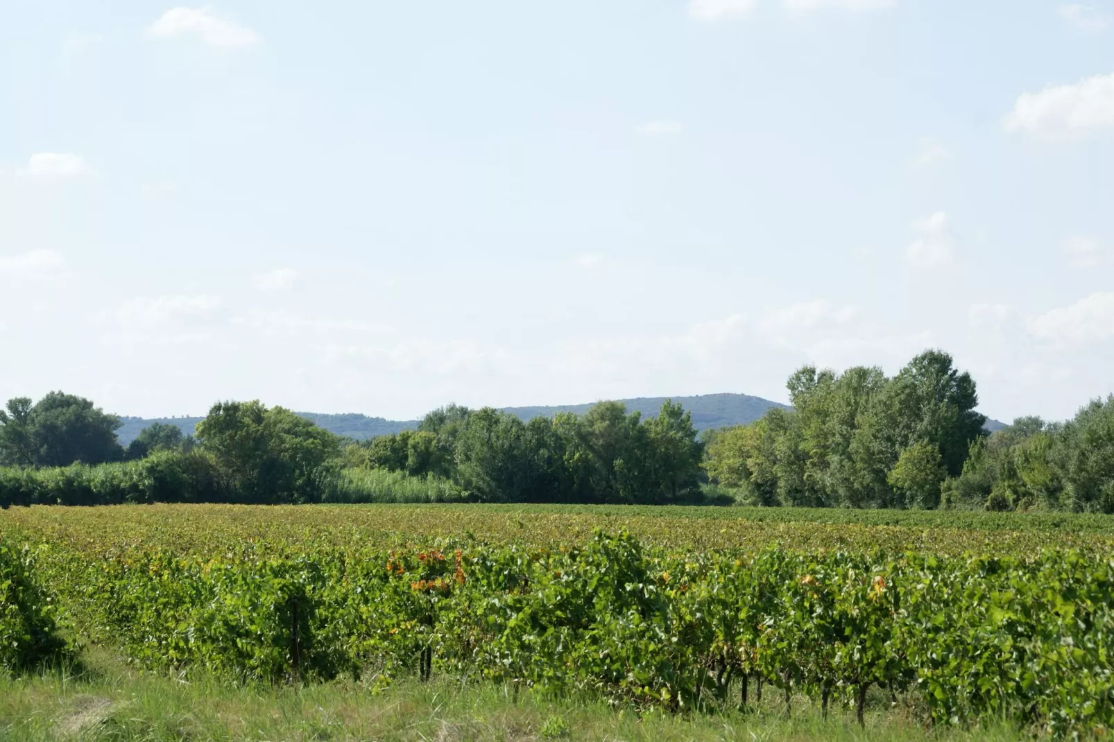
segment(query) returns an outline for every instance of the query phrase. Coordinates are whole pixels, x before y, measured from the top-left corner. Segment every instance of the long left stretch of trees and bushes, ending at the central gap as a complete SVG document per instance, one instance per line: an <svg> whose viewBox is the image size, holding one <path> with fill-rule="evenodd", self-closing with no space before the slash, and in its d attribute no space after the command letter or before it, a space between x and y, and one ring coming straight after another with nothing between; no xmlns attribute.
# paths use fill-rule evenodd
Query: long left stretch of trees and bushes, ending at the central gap
<svg viewBox="0 0 1114 742"><path fill-rule="evenodd" d="M367 478L352 476L367 470L488 502L703 498L703 443L688 412L672 402L656 418L603 402L584 416L525 423L491 408L450 404L416 431L364 442L258 401L214 404L192 437L153 424L127 449L116 442L118 424L62 392L35 404L10 400L0 412L0 504L377 499L360 491Z"/></svg>

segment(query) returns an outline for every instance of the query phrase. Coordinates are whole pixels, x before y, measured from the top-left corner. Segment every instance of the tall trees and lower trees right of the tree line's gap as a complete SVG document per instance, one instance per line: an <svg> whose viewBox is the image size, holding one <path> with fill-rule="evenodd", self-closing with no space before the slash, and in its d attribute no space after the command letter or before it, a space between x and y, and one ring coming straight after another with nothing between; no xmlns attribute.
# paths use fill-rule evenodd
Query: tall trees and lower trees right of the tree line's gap
<svg viewBox="0 0 1114 742"><path fill-rule="evenodd" d="M788 388L793 409L710 437L709 476L744 502L1114 512L1114 396L989 435L975 381L940 351L892 378L804 367Z"/></svg>

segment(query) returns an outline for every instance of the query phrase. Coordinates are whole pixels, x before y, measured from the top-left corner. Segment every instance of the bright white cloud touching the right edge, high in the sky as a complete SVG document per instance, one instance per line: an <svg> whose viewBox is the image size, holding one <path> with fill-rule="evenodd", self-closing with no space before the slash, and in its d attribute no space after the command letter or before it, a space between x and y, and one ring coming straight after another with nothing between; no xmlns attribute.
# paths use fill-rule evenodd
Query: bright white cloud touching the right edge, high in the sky
<svg viewBox="0 0 1114 742"><path fill-rule="evenodd" d="M1049 137L1114 127L1114 74L1025 92L1006 116L1004 127L1006 131Z"/></svg>

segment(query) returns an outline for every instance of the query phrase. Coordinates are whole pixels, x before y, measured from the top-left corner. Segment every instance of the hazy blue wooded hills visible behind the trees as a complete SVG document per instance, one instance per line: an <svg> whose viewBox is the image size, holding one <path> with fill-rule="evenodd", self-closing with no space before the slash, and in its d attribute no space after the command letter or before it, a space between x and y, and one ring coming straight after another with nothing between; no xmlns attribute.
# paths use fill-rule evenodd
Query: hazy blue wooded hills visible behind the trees
<svg viewBox="0 0 1114 742"><path fill-rule="evenodd" d="M654 417L662 409L662 403L666 399L680 402L693 416L693 426L697 430L710 430L713 428L725 428L727 426L742 426L761 418L766 410L772 407L789 409L788 404L771 402L761 397L750 394L698 394L696 397L638 397L635 399L620 399L631 412L641 412L643 417ZM515 414L522 420L531 420L537 417L551 418L559 412L576 412L584 414L592 409L595 402L584 404L561 404L555 407L505 407L504 412ZM401 430L413 430L418 427L418 420L387 420L384 418L370 418L359 412L344 414L323 414L319 412L299 412L306 420L312 420L314 424L321 426L338 436L345 436L356 440L387 436ZM182 432L192 436L194 427L201 422L202 418L126 418L121 417L124 423L116 436L120 443L127 446L139 431L147 426L162 422L164 424L177 426ZM1006 424L997 420L987 420L986 429L990 432L1005 428Z"/></svg>

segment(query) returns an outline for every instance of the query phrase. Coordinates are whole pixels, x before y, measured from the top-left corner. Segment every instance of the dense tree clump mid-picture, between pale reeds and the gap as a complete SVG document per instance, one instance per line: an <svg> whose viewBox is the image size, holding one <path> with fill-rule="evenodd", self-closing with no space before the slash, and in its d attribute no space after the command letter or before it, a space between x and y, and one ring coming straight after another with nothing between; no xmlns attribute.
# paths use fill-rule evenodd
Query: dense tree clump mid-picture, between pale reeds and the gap
<svg viewBox="0 0 1114 742"><path fill-rule="evenodd" d="M449 406L419 430L345 452L359 467L450 478L482 502L682 502L702 498L703 442L680 404L642 419L618 402L522 422Z"/></svg>

